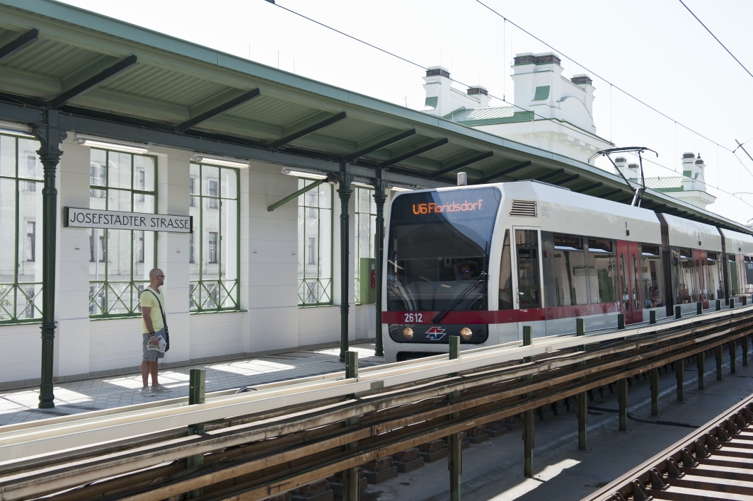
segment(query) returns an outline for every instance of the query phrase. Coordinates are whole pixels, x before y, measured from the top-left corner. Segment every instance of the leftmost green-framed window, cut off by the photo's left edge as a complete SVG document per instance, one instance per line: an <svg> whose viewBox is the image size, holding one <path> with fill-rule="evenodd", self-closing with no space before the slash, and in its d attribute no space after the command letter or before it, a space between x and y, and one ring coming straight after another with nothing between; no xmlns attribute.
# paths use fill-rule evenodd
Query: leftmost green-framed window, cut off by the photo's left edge
<svg viewBox="0 0 753 501"><path fill-rule="evenodd" d="M41 320L39 148L36 139L0 134L0 238L6 244L0 251L0 324Z"/></svg>

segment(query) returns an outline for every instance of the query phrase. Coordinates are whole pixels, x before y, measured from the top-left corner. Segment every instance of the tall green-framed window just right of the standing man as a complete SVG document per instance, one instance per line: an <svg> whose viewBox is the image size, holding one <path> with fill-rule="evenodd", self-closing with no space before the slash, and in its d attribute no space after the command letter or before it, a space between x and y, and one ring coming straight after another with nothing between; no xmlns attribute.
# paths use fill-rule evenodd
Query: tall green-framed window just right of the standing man
<svg viewBox="0 0 753 501"><path fill-rule="evenodd" d="M188 310L239 310L239 170L191 163L188 209Z"/></svg>

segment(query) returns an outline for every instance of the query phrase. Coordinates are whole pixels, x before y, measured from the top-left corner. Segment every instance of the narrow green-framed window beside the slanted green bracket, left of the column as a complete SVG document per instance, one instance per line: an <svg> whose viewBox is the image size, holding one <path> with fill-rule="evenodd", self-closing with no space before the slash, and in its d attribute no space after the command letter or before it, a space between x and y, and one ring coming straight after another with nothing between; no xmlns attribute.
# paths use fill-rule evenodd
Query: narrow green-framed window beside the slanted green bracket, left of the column
<svg viewBox="0 0 753 501"><path fill-rule="evenodd" d="M298 179L301 190L314 181ZM298 197L298 306L331 306L333 190L322 183Z"/></svg>

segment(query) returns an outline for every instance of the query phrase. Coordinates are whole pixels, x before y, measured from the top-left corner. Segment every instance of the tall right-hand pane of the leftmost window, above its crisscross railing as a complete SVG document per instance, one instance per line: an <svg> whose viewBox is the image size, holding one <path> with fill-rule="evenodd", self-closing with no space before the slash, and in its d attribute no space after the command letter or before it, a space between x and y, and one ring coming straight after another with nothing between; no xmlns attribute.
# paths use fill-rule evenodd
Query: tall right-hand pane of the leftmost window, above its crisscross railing
<svg viewBox="0 0 753 501"><path fill-rule="evenodd" d="M18 182L18 281L41 282L42 183Z"/></svg>

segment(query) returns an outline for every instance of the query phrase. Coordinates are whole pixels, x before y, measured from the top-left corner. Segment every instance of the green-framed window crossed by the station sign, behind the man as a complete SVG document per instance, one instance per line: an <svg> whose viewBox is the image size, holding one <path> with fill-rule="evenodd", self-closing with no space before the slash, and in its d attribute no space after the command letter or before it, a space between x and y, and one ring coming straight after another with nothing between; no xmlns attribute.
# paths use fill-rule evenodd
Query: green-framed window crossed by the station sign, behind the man
<svg viewBox="0 0 753 501"><path fill-rule="evenodd" d="M89 208L157 212L157 157L91 148ZM89 316L140 316L157 266L157 232L89 228Z"/></svg>

